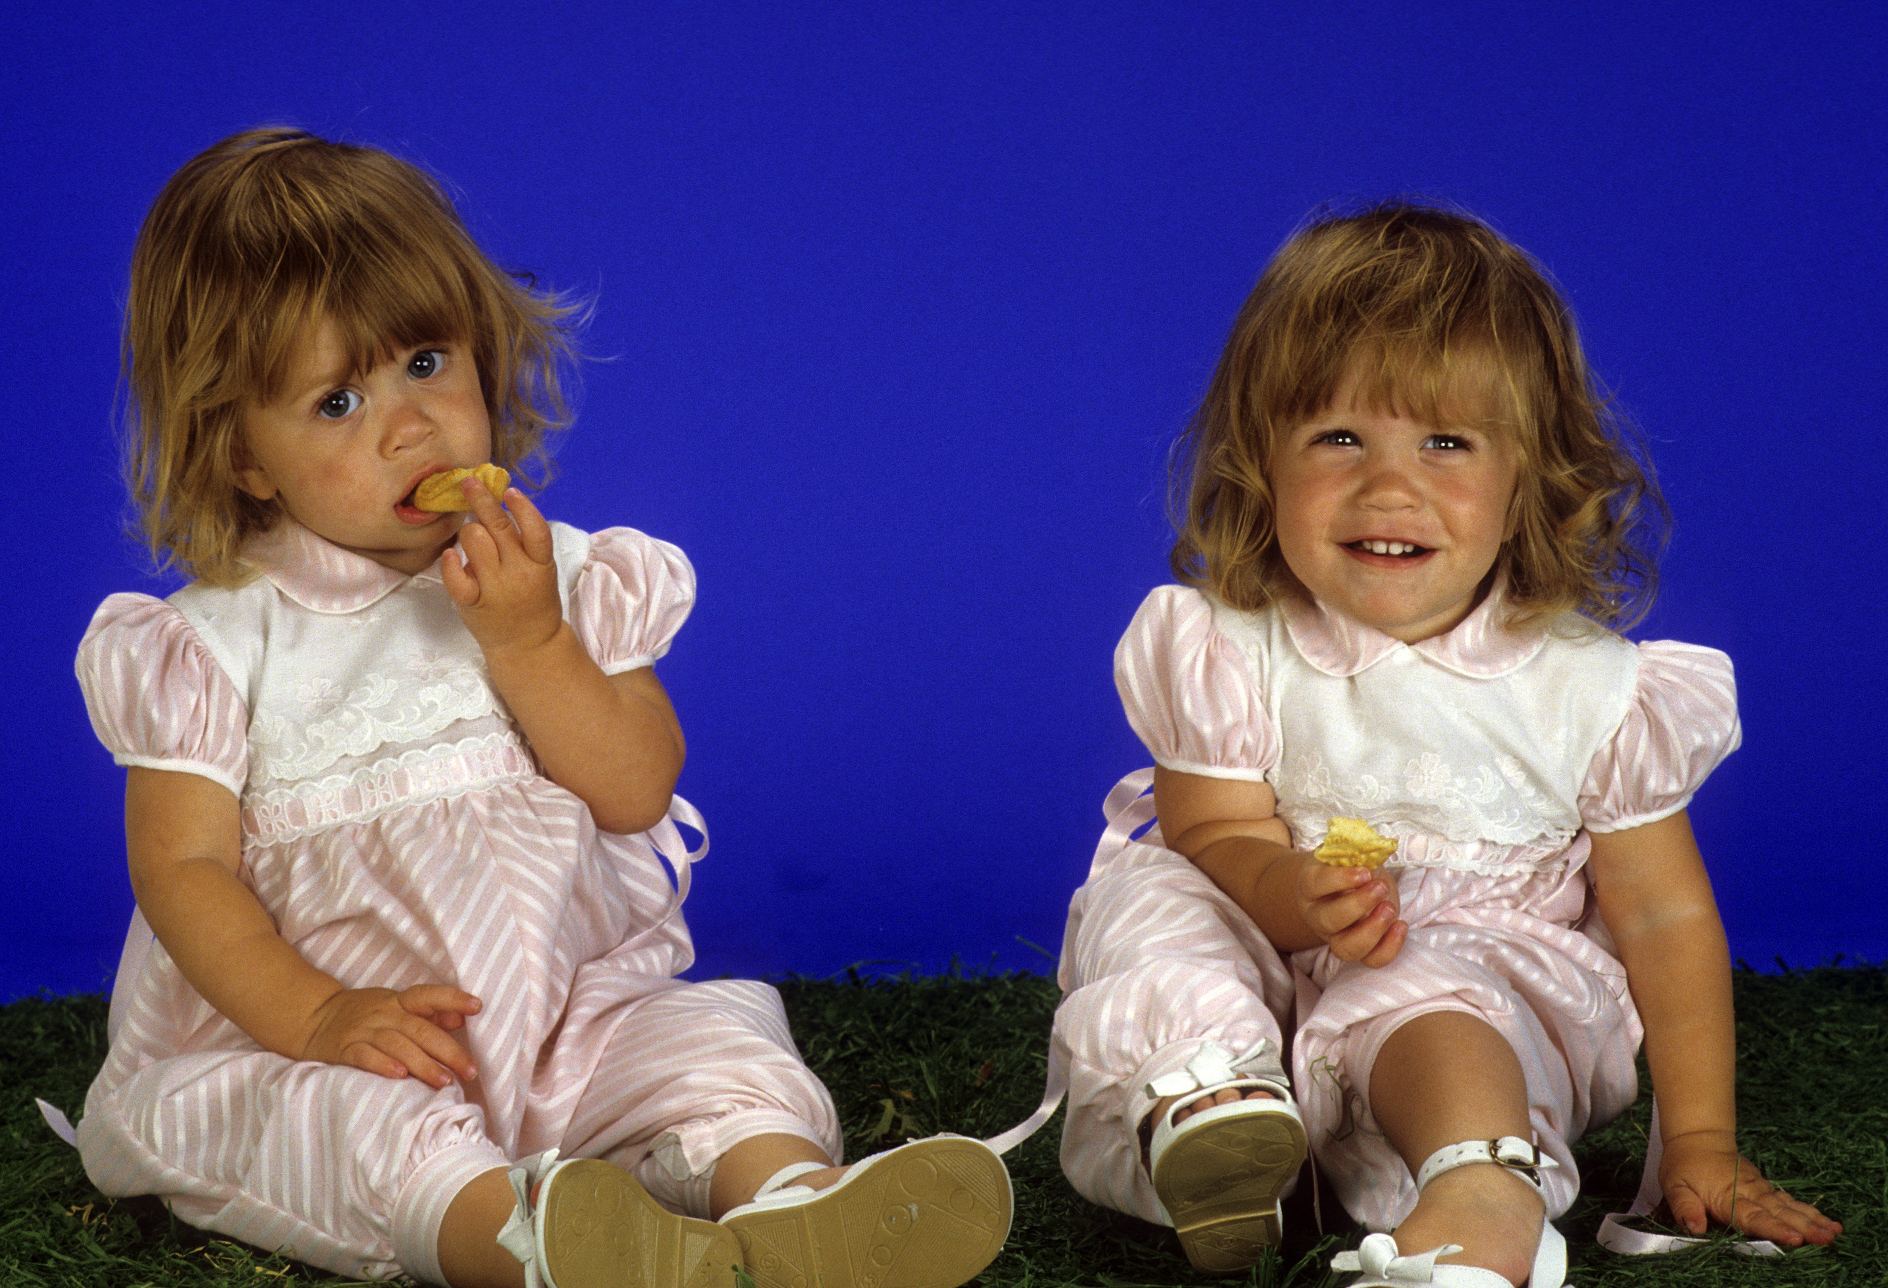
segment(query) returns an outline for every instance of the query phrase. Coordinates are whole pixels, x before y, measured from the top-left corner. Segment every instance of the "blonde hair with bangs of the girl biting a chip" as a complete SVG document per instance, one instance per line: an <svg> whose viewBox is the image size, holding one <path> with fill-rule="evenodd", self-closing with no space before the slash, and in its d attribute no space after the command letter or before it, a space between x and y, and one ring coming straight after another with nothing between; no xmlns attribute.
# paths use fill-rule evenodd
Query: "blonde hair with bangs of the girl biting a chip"
<svg viewBox="0 0 1888 1288"><path fill-rule="evenodd" d="M242 406L281 391L315 319L355 370L395 349L472 349L493 461L549 474L580 306L498 270L417 166L295 128L232 134L151 204L125 304L125 480L159 567L240 582L244 542L279 517L236 485Z"/></svg>

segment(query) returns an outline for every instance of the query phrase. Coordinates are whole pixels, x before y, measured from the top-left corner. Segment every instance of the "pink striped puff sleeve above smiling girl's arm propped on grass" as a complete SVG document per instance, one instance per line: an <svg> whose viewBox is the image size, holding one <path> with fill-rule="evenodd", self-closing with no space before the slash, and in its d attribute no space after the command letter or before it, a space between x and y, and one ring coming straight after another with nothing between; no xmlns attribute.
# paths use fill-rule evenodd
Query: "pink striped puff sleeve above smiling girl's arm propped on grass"
<svg viewBox="0 0 1888 1288"><path fill-rule="evenodd" d="M1639 682L1580 788L1580 818L1592 831L1669 818L1741 740L1729 657L1675 640L1641 644Z"/></svg>

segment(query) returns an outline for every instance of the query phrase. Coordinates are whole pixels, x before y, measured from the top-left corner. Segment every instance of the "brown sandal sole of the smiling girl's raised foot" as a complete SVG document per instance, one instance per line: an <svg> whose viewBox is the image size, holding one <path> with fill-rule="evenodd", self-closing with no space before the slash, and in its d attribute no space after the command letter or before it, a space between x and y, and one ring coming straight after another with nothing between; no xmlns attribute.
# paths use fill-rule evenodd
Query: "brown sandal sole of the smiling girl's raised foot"
<svg viewBox="0 0 1888 1288"><path fill-rule="evenodd" d="M1222 1118L1180 1137L1154 1167L1193 1269L1233 1275L1278 1243L1278 1195L1305 1163L1305 1127L1286 1114Z"/></svg>

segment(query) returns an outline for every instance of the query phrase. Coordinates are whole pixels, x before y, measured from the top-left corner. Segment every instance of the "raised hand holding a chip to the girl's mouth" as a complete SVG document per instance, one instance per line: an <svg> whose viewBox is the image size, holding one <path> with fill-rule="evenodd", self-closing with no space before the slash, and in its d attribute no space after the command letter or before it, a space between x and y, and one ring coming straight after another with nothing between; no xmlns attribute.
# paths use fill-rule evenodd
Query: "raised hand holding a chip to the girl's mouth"
<svg viewBox="0 0 1888 1288"><path fill-rule="evenodd" d="M459 550L440 555L446 593L487 655L548 642L565 619L551 525L515 487L504 493L510 514L476 478L461 487L476 521L459 529Z"/></svg>

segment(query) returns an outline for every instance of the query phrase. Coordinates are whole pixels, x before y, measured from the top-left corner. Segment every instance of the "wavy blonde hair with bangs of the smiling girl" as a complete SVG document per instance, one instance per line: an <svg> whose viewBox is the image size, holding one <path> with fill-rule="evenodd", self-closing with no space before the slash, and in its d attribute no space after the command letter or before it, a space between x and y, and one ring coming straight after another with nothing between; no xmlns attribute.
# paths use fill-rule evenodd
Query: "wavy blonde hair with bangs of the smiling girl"
<svg viewBox="0 0 1888 1288"><path fill-rule="evenodd" d="M1624 631L1644 616L1669 512L1573 314L1482 221L1401 200L1310 221L1239 310L1172 451L1178 580L1239 608L1303 593L1278 550L1271 463L1346 374L1365 406L1512 436L1510 621L1573 610Z"/></svg>

